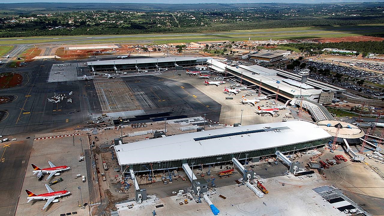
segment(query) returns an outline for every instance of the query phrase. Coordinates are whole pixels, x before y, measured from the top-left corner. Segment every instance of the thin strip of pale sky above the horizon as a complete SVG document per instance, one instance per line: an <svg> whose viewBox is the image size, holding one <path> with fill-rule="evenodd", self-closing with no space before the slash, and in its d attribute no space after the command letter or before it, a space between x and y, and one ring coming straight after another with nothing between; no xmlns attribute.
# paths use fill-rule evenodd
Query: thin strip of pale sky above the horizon
<svg viewBox="0 0 384 216"><path fill-rule="evenodd" d="M0 3L24 3L24 2L75 2L75 3L101 3L97 0L0 0ZM384 2L384 0L104 0L103 3L328 3L328 2Z"/></svg>

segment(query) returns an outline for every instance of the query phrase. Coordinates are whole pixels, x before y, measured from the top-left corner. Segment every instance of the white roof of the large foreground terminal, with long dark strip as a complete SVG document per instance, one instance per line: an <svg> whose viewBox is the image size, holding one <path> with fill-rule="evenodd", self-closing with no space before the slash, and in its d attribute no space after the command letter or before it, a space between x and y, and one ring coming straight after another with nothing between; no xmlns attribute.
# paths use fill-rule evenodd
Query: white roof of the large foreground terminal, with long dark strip
<svg viewBox="0 0 384 216"><path fill-rule="evenodd" d="M114 148L119 164L124 165L225 155L328 137L325 130L313 123L285 121L185 133Z"/></svg>

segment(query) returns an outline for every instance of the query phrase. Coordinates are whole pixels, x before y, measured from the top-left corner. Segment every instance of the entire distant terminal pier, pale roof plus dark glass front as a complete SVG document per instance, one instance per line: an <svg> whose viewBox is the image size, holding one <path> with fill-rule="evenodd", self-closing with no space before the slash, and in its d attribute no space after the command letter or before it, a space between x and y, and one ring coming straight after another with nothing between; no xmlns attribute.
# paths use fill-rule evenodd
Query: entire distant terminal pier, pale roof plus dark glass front
<svg viewBox="0 0 384 216"><path fill-rule="evenodd" d="M116 59L104 61L88 61L88 68L91 71L132 71L132 70L156 70L159 68L178 68L195 66L201 62L206 62L209 58L192 57L167 57L167 58L132 58ZM157 65L157 66L156 66Z"/></svg>

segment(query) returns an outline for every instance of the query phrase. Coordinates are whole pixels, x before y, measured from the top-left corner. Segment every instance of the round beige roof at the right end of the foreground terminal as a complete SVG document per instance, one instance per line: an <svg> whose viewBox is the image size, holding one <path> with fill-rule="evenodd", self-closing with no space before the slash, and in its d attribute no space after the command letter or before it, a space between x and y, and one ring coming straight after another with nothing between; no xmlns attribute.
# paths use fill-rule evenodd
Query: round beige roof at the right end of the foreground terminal
<svg viewBox="0 0 384 216"><path fill-rule="evenodd" d="M338 125L340 125L339 134L337 135L338 138L345 138L345 139L358 139L362 138L364 136L364 131L357 125L353 125L352 123L346 122L346 121L339 121L339 120L321 120L316 122L316 124L320 127L326 130L329 135L336 136L336 131L338 128Z"/></svg>

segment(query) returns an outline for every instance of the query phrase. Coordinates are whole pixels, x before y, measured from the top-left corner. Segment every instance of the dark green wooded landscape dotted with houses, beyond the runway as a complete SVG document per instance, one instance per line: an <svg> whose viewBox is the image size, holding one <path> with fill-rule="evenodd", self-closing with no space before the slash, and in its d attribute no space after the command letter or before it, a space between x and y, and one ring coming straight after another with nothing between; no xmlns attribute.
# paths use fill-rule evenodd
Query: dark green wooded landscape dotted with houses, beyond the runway
<svg viewBox="0 0 384 216"><path fill-rule="evenodd" d="M85 7L80 3L14 3L3 4L0 9L0 16L3 17L0 19L0 37L230 32L306 26L324 31L336 25L339 26L336 28L343 28L347 25L384 23L382 6L383 3L343 3L337 7L333 4L287 3L92 3ZM380 28L380 25L372 26L370 32L381 34L384 28ZM364 32L361 29L344 29L335 33ZM332 33L324 32L329 34L328 37ZM287 34L290 35L287 32L275 33L284 38ZM259 35L270 37L269 33L260 32ZM232 37L229 34L217 36ZM313 37L310 33L291 36Z"/></svg>

